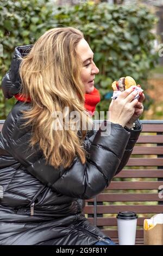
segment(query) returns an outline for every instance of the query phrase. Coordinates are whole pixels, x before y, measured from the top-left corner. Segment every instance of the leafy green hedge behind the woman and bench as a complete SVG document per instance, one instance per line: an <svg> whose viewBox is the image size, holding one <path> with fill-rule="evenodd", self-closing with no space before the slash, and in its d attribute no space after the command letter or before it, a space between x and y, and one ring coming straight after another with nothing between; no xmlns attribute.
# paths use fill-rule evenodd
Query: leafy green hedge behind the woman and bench
<svg viewBox="0 0 163 256"><path fill-rule="evenodd" d="M56 7L48 1L0 0L0 10L4 53L0 58L0 79L9 69L15 46L33 44L49 28L72 26L84 33L95 52L100 70L95 82L102 95L98 110L108 110L110 84L122 76L133 76L144 89L147 87L148 71L157 59L152 51L155 35L151 32L156 18L147 8L93 2ZM0 90L1 119L5 119L14 102L5 101Z"/></svg>

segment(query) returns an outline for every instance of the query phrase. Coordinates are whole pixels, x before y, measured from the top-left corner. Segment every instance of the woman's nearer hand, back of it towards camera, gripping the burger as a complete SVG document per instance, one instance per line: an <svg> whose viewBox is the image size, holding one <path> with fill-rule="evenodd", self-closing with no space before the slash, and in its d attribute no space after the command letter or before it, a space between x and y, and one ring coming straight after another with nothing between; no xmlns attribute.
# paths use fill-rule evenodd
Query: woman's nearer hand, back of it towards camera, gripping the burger
<svg viewBox="0 0 163 256"><path fill-rule="evenodd" d="M134 97L137 95L137 92L134 89L135 87L131 86L121 93L116 100L111 101L108 117L108 120L111 123L120 124L124 127L131 120L131 118L136 117L136 115L139 113L141 106L139 101L134 99ZM137 109L139 109L139 111Z"/></svg>

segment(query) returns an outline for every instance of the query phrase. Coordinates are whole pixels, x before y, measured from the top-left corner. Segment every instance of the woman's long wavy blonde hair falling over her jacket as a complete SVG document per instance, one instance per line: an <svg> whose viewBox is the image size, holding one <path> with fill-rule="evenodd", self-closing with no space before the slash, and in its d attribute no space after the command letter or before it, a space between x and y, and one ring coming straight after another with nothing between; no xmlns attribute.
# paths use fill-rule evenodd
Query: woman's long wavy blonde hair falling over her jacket
<svg viewBox="0 0 163 256"><path fill-rule="evenodd" d="M32 126L30 145L39 144L46 162L51 166L66 168L74 157L84 164L86 152L83 141L86 130L54 130L54 113L60 111L66 123L67 111L77 111L82 122L89 124L89 115L84 108L85 88L80 77L82 60L76 52L78 42L83 39L78 29L52 28L33 45L22 59L20 77L21 94L31 99L31 108L23 111L25 126ZM68 117L69 118L69 117ZM73 126L77 120L69 118Z"/></svg>

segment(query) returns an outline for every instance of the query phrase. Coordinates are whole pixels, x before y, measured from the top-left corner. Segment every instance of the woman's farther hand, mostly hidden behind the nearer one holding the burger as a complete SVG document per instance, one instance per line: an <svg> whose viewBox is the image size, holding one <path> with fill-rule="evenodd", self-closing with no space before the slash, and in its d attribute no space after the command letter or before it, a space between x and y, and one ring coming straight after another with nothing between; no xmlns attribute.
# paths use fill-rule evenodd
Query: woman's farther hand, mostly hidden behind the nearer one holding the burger
<svg viewBox="0 0 163 256"><path fill-rule="evenodd" d="M140 85L138 85L140 87ZM145 100L145 95L143 93L139 93L139 101L137 105L135 106L135 112L133 116L130 118L126 126L131 129L133 127L134 122L142 115L143 113L143 104L142 102Z"/></svg>

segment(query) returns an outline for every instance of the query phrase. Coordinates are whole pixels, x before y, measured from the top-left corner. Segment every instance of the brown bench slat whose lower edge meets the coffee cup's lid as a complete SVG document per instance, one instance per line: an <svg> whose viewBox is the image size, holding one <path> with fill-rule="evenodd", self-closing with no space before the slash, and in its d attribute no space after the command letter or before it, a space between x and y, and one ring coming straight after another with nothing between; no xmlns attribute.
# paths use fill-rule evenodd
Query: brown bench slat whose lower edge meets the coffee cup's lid
<svg viewBox="0 0 163 256"><path fill-rule="evenodd" d="M160 214L162 205L97 205L97 214L117 214L119 211L134 211L137 214ZM85 214L93 214L93 205L85 206Z"/></svg>

